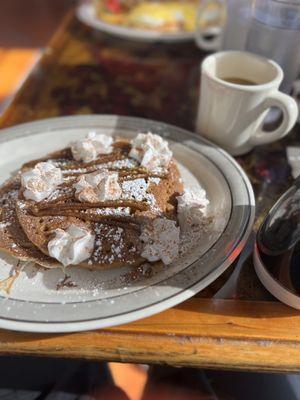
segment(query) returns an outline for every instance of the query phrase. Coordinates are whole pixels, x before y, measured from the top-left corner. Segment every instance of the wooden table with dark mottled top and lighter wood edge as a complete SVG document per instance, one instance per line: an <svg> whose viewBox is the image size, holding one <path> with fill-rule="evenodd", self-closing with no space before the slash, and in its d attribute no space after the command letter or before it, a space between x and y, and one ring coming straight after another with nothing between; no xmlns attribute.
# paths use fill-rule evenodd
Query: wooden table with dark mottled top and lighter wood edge
<svg viewBox="0 0 300 400"><path fill-rule="evenodd" d="M110 113L162 120L193 130L199 65L192 43L144 44L94 32L70 14L0 120ZM291 182L285 141L238 158L254 186L255 229ZM178 366L300 372L300 315L260 285L251 257L231 299L213 295L229 269L199 296L117 328L74 334L0 331L0 354L47 355Z"/></svg>

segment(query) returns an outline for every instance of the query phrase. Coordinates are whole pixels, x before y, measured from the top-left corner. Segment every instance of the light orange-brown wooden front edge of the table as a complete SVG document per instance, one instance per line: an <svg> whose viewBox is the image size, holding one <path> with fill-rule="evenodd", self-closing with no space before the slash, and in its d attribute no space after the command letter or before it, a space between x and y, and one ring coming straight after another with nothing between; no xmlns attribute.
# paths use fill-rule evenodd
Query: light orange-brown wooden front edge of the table
<svg viewBox="0 0 300 400"><path fill-rule="evenodd" d="M300 370L300 316L279 303L192 299L117 328L73 334L0 331L0 354L251 371Z"/></svg>

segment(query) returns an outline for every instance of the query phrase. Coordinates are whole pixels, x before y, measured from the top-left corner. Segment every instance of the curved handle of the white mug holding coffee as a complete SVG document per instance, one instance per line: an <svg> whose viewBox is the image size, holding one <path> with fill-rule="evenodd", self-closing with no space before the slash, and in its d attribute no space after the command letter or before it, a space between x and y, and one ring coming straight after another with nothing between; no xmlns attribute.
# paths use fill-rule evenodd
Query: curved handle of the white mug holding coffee
<svg viewBox="0 0 300 400"><path fill-rule="evenodd" d="M282 110L282 122L278 128L271 132L264 131L261 124L258 130L250 138L250 143L254 146L272 143L275 140L283 138L289 133L297 121L298 106L291 96L274 91L261 104L259 114L267 111L271 107L278 107Z"/></svg>

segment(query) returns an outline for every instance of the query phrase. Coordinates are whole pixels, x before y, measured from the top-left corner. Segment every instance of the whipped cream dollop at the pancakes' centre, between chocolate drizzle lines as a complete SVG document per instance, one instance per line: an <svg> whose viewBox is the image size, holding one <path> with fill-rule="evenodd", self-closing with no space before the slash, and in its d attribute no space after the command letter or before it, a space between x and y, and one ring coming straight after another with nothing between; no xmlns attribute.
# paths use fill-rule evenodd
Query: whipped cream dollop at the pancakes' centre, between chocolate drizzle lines
<svg viewBox="0 0 300 400"><path fill-rule="evenodd" d="M76 189L75 197L81 202L88 203L116 200L122 194L118 183L118 173L107 170L81 175L74 184L74 188Z"/></svg>

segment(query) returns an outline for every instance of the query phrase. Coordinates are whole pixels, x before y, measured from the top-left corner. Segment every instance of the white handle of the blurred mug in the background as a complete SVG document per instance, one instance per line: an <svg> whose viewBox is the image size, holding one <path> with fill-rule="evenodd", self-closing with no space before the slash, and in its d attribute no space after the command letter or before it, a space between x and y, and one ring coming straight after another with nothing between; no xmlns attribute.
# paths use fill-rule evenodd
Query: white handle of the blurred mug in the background
<svg viewBox="0 0 300 400"><path fill-rule="evenodd" d="M202 28L200 25L200 19L205 19L205 13L207 14L207 20L209 17L209 7L214 4L217 5L217 9L214 11L217 14L219 26L213 26L210 28ZM196 44L203 50L214 51L221 48L221 36L224 28L224 1L223 0L202 0L198 8L196 16L196 30L195 30L195 41ZM206 39L205 35L213 36L211 39Z"/></svg>

